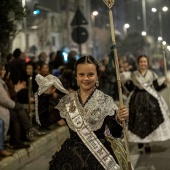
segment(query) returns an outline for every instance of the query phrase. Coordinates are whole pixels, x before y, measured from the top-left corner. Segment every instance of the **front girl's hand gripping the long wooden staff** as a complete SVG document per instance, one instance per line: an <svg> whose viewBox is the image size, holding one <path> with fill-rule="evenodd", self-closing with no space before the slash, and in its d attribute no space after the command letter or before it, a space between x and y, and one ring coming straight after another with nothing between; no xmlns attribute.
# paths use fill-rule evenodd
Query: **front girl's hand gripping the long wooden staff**
<svg viewBox="0 0 170 170"><path fill-rule="evenodd" d="M129 110L127 109L127 107L123 106L123 107L119 107L118 113L117 113L117 119L119 122L122 122L124 120L127 120L129 117Z"/></svg>

